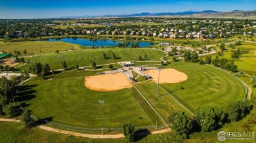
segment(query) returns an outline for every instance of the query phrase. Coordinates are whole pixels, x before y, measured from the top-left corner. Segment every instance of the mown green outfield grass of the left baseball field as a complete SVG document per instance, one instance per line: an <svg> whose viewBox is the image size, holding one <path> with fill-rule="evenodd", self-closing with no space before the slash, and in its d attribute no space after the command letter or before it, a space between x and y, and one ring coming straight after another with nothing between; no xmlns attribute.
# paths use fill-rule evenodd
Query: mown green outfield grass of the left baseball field
<svg viewBox="0 0 256 143"><path fill-rule="evenodd" d="M106 129L120 127L125 122L133 122L135 126L152 125L137 103L143 101L133 98L134 88L108 93L93 91L84 85L84 75L92 74L95 72L66 71L54 74L51 81L33 78L20 87L17 100L20 104L26 102L24 107L38 118L64 125L100 129L100 100L104 101L102 114ZM140 95L137 93L137 96Z"/></svg>

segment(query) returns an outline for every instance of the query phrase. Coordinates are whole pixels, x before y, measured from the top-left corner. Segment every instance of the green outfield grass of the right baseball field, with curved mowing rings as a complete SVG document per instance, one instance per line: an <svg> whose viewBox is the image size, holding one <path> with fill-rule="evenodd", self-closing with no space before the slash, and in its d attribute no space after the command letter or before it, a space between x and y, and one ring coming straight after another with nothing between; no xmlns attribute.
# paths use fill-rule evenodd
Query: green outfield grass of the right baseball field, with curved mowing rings
<svg viewBox="0 0 256 143"><path fill-rule="evenodd" d="M242 101L244 85L234 76L207 65L174 67L188 75L188 80L177 84L160 84L188 109L199 106L226 106L231 101Z"/></svg>

